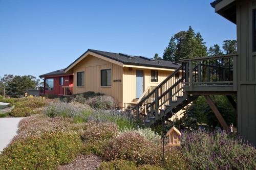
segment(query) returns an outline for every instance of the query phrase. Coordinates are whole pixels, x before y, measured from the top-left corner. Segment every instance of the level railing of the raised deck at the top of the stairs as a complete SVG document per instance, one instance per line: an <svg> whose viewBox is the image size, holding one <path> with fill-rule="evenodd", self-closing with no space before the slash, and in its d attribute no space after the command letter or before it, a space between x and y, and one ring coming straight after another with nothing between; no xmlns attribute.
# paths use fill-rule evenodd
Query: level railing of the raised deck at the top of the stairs
<svg viewBox="0 0 256 170"><path fill-rule="evenodd" d="M203 57L180 60L185 72L185 85L189 90L195 86L233 86L237 90L237 55Z"/></svg>

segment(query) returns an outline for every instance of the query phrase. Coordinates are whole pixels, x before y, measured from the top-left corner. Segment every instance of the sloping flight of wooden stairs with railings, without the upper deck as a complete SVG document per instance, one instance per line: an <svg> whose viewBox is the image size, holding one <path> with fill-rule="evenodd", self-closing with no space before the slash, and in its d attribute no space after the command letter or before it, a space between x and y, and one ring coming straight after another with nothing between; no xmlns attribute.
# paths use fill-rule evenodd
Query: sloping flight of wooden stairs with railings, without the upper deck
<svg viewBox="0 0 256 170"><path fill-rule="evenodd" d="M148 93L130 110L144 126L152 126L161 122L169 124L179 110L195 100L198 95L189 95L183 90L185 83L185 65L180 65L154 90Z"/></svg>

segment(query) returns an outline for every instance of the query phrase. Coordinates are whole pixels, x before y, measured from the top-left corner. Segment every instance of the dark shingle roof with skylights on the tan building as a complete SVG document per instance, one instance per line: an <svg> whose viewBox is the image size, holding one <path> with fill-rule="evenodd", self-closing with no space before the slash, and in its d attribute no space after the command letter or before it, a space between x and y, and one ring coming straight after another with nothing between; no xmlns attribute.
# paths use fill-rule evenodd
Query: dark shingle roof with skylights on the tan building
<svg viewBox="0 0 256 170"><path fill-rule="evenodd" d="M150 58L146 58L146 57L142 57L142 56L132 56L132 55L127 55L127 54L122 54L122 53L103 52L103 51L92 50L92 49L88 49L88 51L93 52L98 55L101 55L106 58L110 58L112 60L119 61L119 62L121 62L123 64L127 64L127 65L169 68L169 69L170 68L176 69L180 66L180 64L172 62L172 61L154 60L154 59L150 59ZM81 58L87 52L83 53L79 58ZM75 63L78 59L76 59L73 63ZM73 63L71 63L68 67L70 67Z"/></svg>

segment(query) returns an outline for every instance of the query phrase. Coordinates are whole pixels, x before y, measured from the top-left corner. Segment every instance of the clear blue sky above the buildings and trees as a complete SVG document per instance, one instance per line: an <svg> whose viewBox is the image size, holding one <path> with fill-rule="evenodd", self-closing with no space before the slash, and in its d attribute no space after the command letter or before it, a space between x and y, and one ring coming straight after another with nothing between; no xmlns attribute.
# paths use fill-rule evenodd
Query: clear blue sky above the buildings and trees
<svg viewBox="0 0 256 170"><path fill-rule="evenodd" d="M236 39L214 0L0 0L0 77L38 76L67 67L88 48L162 56L191 25L209 47Z"/></svg>

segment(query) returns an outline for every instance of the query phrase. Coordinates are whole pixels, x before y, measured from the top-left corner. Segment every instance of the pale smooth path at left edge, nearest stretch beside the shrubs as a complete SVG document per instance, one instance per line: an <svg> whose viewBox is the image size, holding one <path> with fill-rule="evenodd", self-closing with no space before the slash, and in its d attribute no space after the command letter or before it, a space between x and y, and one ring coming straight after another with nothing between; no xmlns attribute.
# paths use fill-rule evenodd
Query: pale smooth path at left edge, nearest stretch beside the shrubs
<svg viewBox="0 0 256 170"><path fill-rule="evenodd" d="M10 143L18 130L18 123L23 117L0 118L0 152Z"/></svg>

